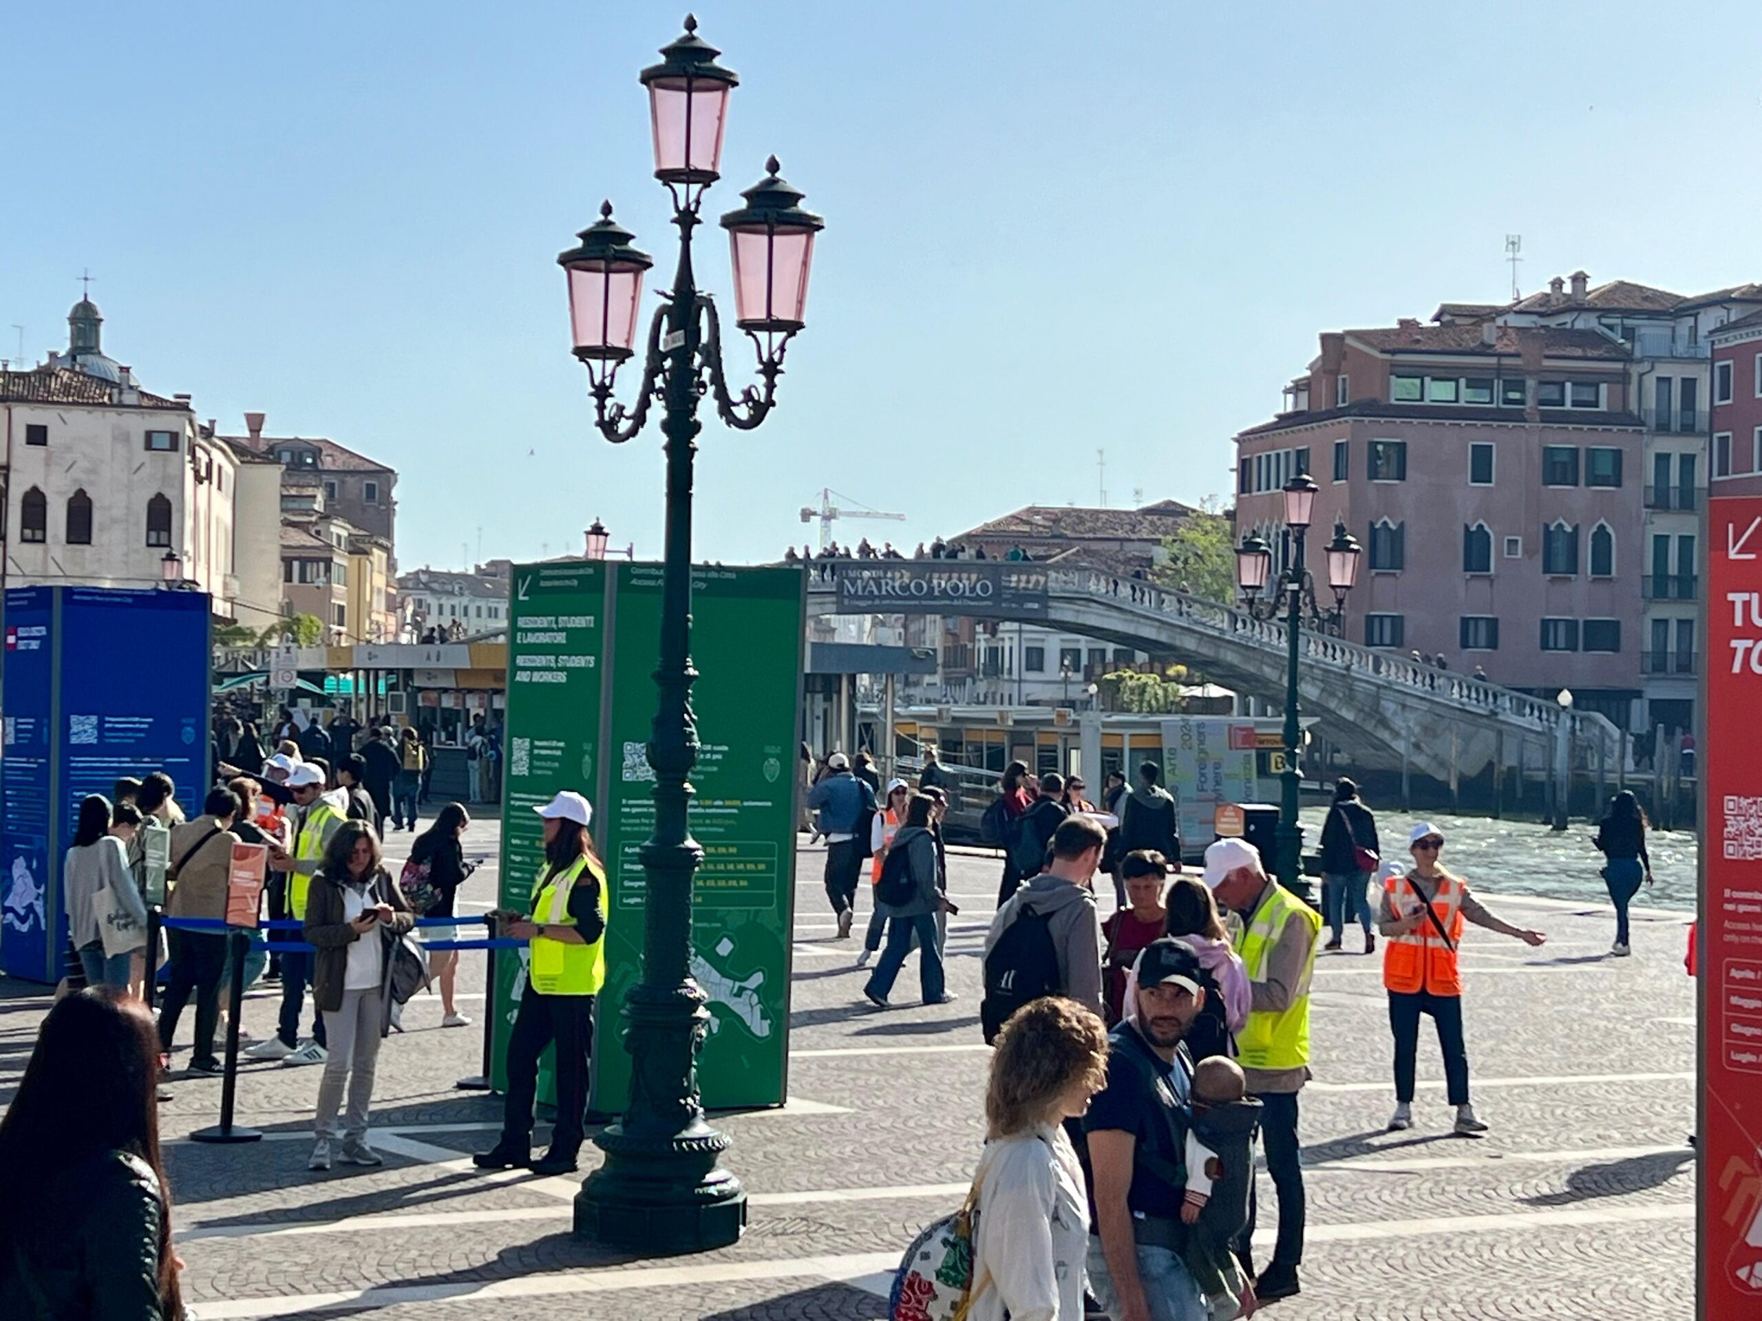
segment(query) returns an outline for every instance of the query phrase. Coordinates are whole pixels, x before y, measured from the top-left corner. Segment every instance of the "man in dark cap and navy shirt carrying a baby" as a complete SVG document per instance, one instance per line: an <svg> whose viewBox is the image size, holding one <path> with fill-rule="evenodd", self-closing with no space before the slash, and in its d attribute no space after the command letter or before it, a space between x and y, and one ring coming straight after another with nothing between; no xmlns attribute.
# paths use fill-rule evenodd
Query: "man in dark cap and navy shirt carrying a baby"
<svg viewBox="0 0 1762 1321"><path fill-rule="evenodd" d="M1205 1004L1198 955L1152 941L1136 1000L1108 1036L1107 1087L1084 1115L1091 1171L1089 1284L1114 1321L1205 1321L1182 1261L1188 1101L1193 1060L1181 1037Z"/></svg>

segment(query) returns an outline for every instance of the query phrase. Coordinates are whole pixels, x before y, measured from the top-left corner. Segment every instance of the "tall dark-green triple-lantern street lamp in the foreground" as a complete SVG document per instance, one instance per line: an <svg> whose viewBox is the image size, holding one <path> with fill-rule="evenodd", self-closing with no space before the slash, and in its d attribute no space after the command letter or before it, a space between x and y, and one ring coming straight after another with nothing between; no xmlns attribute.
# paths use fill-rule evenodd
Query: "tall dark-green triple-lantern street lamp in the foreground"
<svg viewBox="0 0 1762 1321"><path fill-rule="evenodd" d="M641 72L648 88L655 178L673 199L678 264L673 287L648 321L643 379L636 402L613 400L618 366L636 354L643 277L654 266L633 245L634 234L611 218L611 203L580 234L580 247L557 262L569 280L574 356L587 366L594 419L601 435L622 444L641 432L648 409L661 403L666 437L666 550L663 557L659 705L648 742L655 773L655 824L641 845L647 874L643 969L624 1000L624 1044L631 1053L631 1096L624 1115L599 1138L604 1164L587 1177L574 1203L576 1233L606 1244L650 1251L698 1251L731 1244L745 1224L747 1194L721 1155L728 1138L705 1122L696 1057L708 1029L705 995L691 978L691 886L703 849L691 838L687 777L698 759L691 710L691 490L698 400L715 398L715 412L747 432L775 405L789 340L803 326L814 238L825 222L802 210L802 192L779 176L777 157L747 188L745 206L722 215L735 277L735 326L758 352L758 386L738 396L722 372L721 315L698 289L691 266L692 231L701 224L703 194L721 178L728 99L738 85L721 55L685 32ZM606 530L596 520L589 553L604 555Z"/></svg>

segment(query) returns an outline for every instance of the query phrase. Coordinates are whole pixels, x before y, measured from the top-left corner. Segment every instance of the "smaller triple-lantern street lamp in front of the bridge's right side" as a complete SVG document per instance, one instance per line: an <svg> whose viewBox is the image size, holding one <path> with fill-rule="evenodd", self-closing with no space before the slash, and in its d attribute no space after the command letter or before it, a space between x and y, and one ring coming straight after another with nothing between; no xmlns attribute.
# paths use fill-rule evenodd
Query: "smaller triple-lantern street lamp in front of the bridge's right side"
<svg viewBox="0 0 1762 1321"><path fill-rule="evenodd" d="M1284 483L1283 495L1288 555L1272 590L1267 590L1267 579L1272 578L1272 546L1256 532L1242 537L1242 544L1235 551L1235 581L1242 588L1246 609L1253 618L1267 622L1277 618L1281 611L1284 613L1284 770L1279 773L1277 872L1279 882L1286 889L1307 900L1311 888L1304 877L1302 830L1297 824L1300 786L1297 759L1302 750L1302 727L1297 720L1300 632L1307 624L1318 632L1339 634L1346 613L1346 594L1359 581L1360 548L1348 535L1346 525L1336 520L1334 539L1327 544L1327 585L1334 592L1334 604L1323 608L1316 601L1314 578L1304 562L1304 539L1314 514L1316 484L1306 474L1297 474Z"/></svg>

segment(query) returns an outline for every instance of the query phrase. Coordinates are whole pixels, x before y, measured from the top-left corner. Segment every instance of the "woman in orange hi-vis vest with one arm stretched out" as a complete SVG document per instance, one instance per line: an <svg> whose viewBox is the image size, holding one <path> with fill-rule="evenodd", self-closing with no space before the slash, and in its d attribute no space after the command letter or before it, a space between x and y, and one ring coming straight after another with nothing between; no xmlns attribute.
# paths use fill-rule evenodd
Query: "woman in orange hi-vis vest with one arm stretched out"
<svg viewBox="0 0 1762 1321"><path fill-rule="evenodd" d="M1461 877L1438 861L1443 831L1422 821L1410 835L1413 870L1399 863L1383 868L1383 902L1376 926L1383 934L1383 990L1388 992L1388 1027L1396 1036L1396 1113L1388 1131L1413 1127L1413 1062L1418 1055L1420 1015L1438 1025L1448 1101L1455 1106L1455 1131L1471 1138L1485 1133L1468 1101L1468 1046L1462 1043L1462 974L1455 951L1462 944L1462 921L1524 944L1542 944L1542 932L1499 921L1487 912Z"/></svg>

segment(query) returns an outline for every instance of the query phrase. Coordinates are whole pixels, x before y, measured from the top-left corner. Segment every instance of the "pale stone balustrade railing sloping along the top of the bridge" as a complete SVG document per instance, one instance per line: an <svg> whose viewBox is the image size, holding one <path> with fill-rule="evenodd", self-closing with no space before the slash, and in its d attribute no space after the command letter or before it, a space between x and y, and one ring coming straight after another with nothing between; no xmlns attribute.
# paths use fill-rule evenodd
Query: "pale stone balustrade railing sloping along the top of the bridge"
<svg viewBox="0 0 1762 1321"><path fill-rule="evenodd" d="M814 585L833 587L839 567L844 564L862 564L865 560L812 560L809 579ZM916 564L923 564L918 560ZM964 565L966 562L957 560ZM1040 565L1036 565L1040 567ZM1253 639L1269 648L1284 648L1284 625L1277 622L1256 620L1244 609L1225 606L1216 601L1158 587L1138 578L1119 578L1099 569L1045 565L1048 595L1080 595L1087 599L1108 599L1126 609L1145 615L1163 615L1179 618L1188 625L1205 629L1221 638ZM1441 699L1455 706L1478 708L1487 715L1503 715L1526 722L1536 729L1554 729L1561 719L1561 708L1554 701L1517 692L1484 678L1459 675L1450 669L1438 669L1424 662L1411 660L1396 652L1381 652L1373 646L1348 643L1344 638L1306 629L1300 638L1302 653L1311 660L1320 660L1341 669L1357 669L1373 678L1401 685L1427 699ZM1581 712L1579 727L1586 734L1618 747L1616 726L1596 712Z"/></svg>

